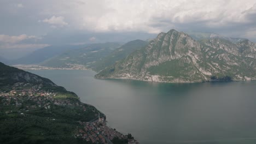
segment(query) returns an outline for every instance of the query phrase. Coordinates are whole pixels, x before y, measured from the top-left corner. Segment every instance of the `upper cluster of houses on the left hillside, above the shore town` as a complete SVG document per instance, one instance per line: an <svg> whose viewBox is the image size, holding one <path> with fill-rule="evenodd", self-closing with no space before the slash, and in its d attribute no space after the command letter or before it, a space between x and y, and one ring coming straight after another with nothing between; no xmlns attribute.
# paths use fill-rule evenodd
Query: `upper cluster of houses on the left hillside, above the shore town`
<svg viewBox="0 0 256 144"><path fill-rule="evenodd" d="M2 105L21 106L24 101L31 101L32 103L26 104L26 109L35 109L43 107L50 109L51 104L55 105L74 105L67 99L55 99L56 93L42 89L42 85L31 85L30 83L15 83L10 92L4 92L0 89L0 98L2 98ZM79 105L79 104L77 104ZM86 107L83 107L86 111ZM10 113L7 111L6 113Z"/></svg>

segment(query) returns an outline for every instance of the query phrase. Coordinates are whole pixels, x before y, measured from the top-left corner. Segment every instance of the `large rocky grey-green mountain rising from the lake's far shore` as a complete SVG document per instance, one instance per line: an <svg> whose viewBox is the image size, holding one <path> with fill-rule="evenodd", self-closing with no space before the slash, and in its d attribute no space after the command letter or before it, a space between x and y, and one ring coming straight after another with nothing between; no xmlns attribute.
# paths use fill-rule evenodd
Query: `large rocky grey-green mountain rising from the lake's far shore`
<svg viewBox="0 0 256 144"><path fill-rule="evenodd" d="M255 80L255 52L256 45L249 40L197 41L171 29L95 77L156 82Z"/></svg>

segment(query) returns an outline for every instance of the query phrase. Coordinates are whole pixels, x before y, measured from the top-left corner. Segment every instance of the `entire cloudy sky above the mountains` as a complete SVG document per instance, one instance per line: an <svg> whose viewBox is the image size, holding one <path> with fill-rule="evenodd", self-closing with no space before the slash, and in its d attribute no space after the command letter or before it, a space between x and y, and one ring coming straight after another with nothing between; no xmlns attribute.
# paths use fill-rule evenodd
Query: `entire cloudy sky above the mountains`
<svg viewBox="0 0 256 144"><path fill-rule="evenodd" d="M212 32L256 42L255 0L1 0L0 56L49 45L125 43L160 32Z"/></svg>

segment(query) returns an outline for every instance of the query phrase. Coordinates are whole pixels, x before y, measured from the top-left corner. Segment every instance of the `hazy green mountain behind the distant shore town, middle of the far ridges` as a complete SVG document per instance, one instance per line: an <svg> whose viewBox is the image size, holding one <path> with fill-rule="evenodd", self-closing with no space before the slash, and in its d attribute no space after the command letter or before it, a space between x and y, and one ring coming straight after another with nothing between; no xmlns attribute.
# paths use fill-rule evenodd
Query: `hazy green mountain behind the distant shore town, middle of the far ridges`
<svg viewBox="0 0 256 144"><path fill-rule="evenodd" d="M80 64L89 68L91 64L100 61L102 57L109 55L109 53L118 47L120 47L118 43L90 44L80 49L65 51L60 55L47 59L40 63L40 65L67 68L72 64Z"/></svg>

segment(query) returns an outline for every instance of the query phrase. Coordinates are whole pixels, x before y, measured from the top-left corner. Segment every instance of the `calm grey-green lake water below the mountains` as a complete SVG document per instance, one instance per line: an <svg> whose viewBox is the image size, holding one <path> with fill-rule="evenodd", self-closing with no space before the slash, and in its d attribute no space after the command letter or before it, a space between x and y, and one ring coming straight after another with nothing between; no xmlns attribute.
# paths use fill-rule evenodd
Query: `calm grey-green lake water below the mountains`
<svg viewBox="0 0 256 144"><path fill-rule="evenodd" d="M31 70L78 94L142 144L256 143L256 82L97 80L90 70Z"/></svg>

